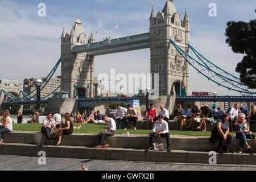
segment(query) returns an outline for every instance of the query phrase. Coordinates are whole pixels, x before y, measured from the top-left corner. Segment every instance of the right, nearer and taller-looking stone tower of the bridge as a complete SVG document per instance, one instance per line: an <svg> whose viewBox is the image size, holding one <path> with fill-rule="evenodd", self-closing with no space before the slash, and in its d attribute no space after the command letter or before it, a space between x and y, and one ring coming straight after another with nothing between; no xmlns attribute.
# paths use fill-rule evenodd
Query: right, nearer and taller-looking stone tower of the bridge
<svg viewBox="0 0 256 182"><path fill-rule="evenodd" d="M189 88L189 65L172 46L170 37L188 52L187 7L184 19L181 20L172 0L167 0L162 12L158 11L157 14L153 3L150 16L151 73L159 73L160 95L170 96L175 92L176 95L185 95L188 94ZM152 85L154 87L154 83Z"/></svg>

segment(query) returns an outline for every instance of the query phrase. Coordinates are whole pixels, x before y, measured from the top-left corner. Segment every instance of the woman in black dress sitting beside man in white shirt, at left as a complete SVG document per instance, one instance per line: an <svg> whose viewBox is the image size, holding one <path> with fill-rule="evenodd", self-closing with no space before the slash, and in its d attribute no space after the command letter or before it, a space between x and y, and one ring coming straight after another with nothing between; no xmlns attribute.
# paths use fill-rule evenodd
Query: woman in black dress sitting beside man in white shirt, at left
<svg viewBox="0 0 256 182"><path fill-rule="evenodd" d="M70 118L69 113L65 113L65 122L63 122L64 127L60 128L57 130L57 135L58 135L58 142L56 146L59 146L61 144L61 135L71 135L73 133L73 121Z"/></svg>

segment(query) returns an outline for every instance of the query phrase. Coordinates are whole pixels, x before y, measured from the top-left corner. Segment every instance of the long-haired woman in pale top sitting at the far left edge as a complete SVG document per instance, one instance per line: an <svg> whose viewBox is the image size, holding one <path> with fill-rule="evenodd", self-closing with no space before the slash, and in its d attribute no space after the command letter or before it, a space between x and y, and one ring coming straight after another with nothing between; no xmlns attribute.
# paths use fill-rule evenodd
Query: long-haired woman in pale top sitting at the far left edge
<svg viewBox="0 0 256 182"><path fill-rule="evenodd" d="M13 122L9 110L3 111L3 123L0 123L0 143L3 143L2 134L13 131Z"/></svg>

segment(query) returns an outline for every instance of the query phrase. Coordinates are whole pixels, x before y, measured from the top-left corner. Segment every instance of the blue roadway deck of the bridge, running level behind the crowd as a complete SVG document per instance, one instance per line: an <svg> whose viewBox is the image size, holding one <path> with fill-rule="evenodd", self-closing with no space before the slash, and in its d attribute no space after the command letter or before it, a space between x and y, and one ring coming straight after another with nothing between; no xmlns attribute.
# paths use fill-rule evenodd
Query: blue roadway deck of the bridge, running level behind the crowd
<svg viewBox="0 0 256 182"><path fill-rule="evenodd" d="M98 98L79 98L79 106L93 106L108 101L129 101L137 100L137 97L98 97ZM176 96L176 101L205 101L213 102L213 96ZM256 96L217 96L216 102L256 102ZM48 100L41 100L41 104L47 104ZM2 102L2 106L19 106L36 104L36 100L32 101L14 101Z"/></svg>

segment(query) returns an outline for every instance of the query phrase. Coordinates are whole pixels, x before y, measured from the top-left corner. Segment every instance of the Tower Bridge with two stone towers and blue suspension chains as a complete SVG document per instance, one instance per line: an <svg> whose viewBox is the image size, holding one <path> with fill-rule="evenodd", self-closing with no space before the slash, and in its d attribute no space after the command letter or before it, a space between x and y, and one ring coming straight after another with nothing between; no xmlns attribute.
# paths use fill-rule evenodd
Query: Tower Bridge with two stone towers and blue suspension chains
<svg viewBox="0 0 256 182"><path fill-rule="evenodd" d="M155 88L156 86L152 82L152 89L158 89L160 95L157 100L152 101L157 103L156 107L164 104L169 111L172 111L177 102L212 100L212 97L189 97L189 65L196 69L199 74L206 77L208 81L212 81L218 86L234 90L240 94L256 94L255 90L249 90L246 85L242 84L240 78L217 67L217 65L213 64L212 61L209 61L191 46L189 43L190 21L187 7L185 7L185 15L181 17L172 0L167 0L163 10L158 11L158 13L155 13L153 4L149 21L149 32L117 39L106 37L101 42L95 42L93 31L90 36L85 34L80 19L77 19L75 25L72 25L70 34L65 32L63 27L61 57L46 77L46 80L44 80L44 86L61 63L61 93L68 93L69 99L68 102L65 102L66 105L69 104L70 108L73 108L75 103L80 103L80 106L98 105L98 103L102 102L102 99L95 98L97 93L97 83L94 77L95 57L149 48L152 80L154 81L154 73L159 74L158 88ZM189 54L189 50L192 50L191 53L195 55ZM14 96L9 93L9 90L7 92L2 90L1 101L3 100L3 95L5 95L5 97L15 101L13 104L19 105L30 103L31 99L35 97L35 93L32 92L22 94L23 97ZM76 100L77 95L86 99L71 101L71 99ZM56 102L56 99L54 101L49 99L48 101L47 97L41 99L44 102L50 102L51 105L53 102ZM118 98L109 98L105 99L104 102L112 99L118 100ZM143 100L143 98L139 99ZM225 101L254 101L255 96L217 97L217 99ZM63 103L64 101L60 100L56 105L64 107ZM143 105L144 101L141 103ZM2 105L11 105L11 102L5 102ZM67 111L71 111L72 108ZM48 109L54 110L52 108ZM56 109L60 110L60 108Z"/></svg>

